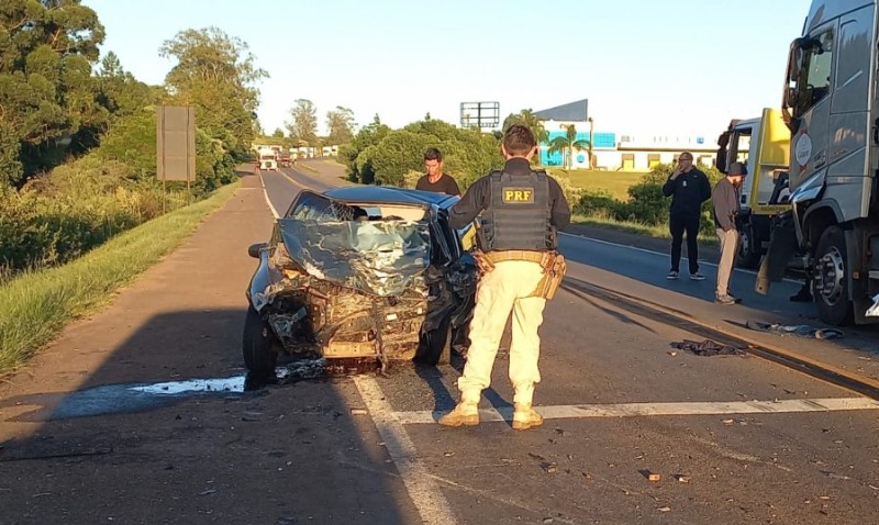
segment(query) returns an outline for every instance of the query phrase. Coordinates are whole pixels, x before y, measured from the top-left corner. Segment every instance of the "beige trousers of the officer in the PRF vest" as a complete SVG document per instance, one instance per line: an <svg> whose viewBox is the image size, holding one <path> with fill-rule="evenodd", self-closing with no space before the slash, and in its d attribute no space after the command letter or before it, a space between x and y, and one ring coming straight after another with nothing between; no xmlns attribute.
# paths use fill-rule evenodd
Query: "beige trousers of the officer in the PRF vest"
<svg viewBox="0 0 879 525"><path fill-rule="evenodd" d="M464 375L458 379L461 401L478 402L482 390L491 384L491 369L503 329L513 312L510 345L510 381L514 403L531 404L534 384L541 381L537 360L546 299L531 295L543 277L537 262L504 260L482 276L476 289L476 308L470 322L470 348Z"/></svg>

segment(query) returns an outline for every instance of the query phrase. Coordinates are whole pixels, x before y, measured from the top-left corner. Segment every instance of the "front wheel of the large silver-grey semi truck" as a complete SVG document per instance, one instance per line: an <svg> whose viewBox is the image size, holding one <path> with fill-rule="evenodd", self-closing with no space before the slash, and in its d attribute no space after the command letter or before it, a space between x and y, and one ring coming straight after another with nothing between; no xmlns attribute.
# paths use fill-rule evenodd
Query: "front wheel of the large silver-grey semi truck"
<svg viewBox="0 0 879 525"><path fill-rule="evenodd" d="M836 226L828 227L817 242L814 268L814 295L819 317L827 324L852 323L853 308L848 299L848 260L845 235Z"/></svg>

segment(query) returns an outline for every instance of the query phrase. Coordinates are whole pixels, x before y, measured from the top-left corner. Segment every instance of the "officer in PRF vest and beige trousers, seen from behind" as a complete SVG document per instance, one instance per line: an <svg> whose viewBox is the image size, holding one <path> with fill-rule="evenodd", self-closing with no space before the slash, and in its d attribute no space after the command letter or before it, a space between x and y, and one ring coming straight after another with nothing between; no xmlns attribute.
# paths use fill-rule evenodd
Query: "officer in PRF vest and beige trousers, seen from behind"
<svg viewBox="0 0 879 525"><path fill-rule="evenodd" d="M491 382L494 356L511 311L513 428L543 424L543 417L532 407L534 386L541 381L537 329L546 305L545 297L537 291L547 275L545 268L557 255L556 232L570 223L570 209L558 182L544 171L531 169L528 161L537 152L531 130L520 124L511 126L501 150L507 158L503 171L492 171L477 180L449 211L449 223L455 228L466 226L482 213L478 258L488 259L491 269L480 277L477 287L471 344L458 379L460 402L439 418L444 426L479 423L477 405ZM560 256L558 259L564 260ZM549 265L544 264L547 260Z"/></svg>

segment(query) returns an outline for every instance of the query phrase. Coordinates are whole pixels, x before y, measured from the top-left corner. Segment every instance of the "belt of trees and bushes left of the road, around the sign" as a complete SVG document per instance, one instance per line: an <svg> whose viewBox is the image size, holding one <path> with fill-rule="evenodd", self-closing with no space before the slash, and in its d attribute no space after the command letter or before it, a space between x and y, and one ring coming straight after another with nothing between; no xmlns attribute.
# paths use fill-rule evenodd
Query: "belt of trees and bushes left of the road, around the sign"
<svg viewBox="0 0 879 525"><path fill-rule="evenodd" d="M7 0L0 9L0 276L75 258L235 176L256 134L244 42L186 30L158 51L176 62L147 86L113 53L80 0ZM156 180L155 111L196 107L197 178Z"/></svg>

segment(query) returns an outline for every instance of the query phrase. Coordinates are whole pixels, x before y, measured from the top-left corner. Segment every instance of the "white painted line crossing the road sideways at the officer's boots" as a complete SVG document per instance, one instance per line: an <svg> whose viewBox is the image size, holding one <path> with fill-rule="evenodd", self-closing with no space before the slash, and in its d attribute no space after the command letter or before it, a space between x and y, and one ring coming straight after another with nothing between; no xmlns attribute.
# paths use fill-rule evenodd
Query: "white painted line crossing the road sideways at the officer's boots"
<svg viewBox="0 0 879 525"><path fill-rule="evenodd" d="M794 399L779 401L716 401L681 403L569 404L535 406L545 420L583 417L637 417L650 415L780 414L789 412L835 412L879 410L868 398ZM435 423L443 412L398 412L402 424ZM480 421L510 421L513 409L482 409Z"/></svg>

